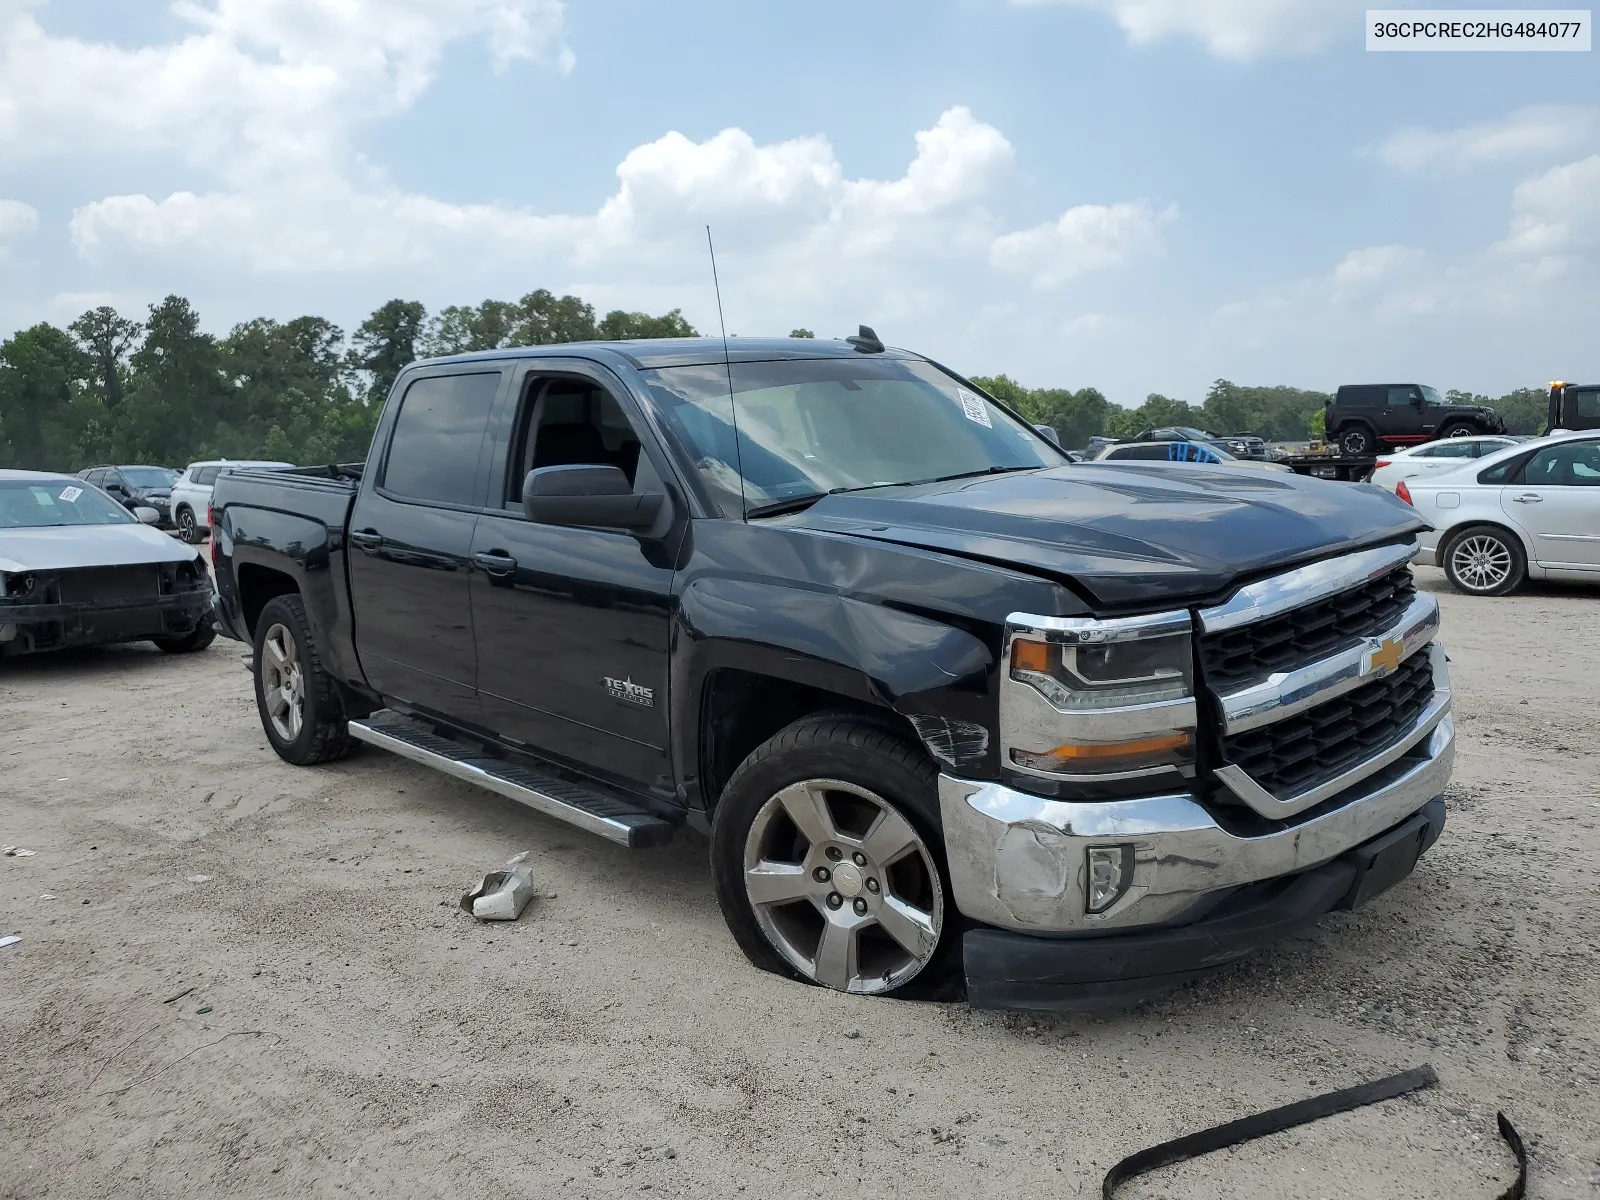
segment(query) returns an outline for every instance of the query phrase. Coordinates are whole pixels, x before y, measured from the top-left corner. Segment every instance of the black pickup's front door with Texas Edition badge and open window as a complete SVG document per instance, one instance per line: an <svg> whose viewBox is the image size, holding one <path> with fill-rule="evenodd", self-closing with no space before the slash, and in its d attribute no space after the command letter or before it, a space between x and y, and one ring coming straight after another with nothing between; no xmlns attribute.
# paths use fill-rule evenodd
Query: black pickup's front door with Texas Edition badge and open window
<svg viewBox="0 0 1600 1200"><path fill-rule="evenodd" d="M661 491L637 413L608 371L541 360L507 403L506 462L472 539L472 621L485 725L619 782L672 787L667 637L672 563L619 530L536 525L522 514L534 467L611 464ZM627 405L627 406L624 406Z"/></svg>

